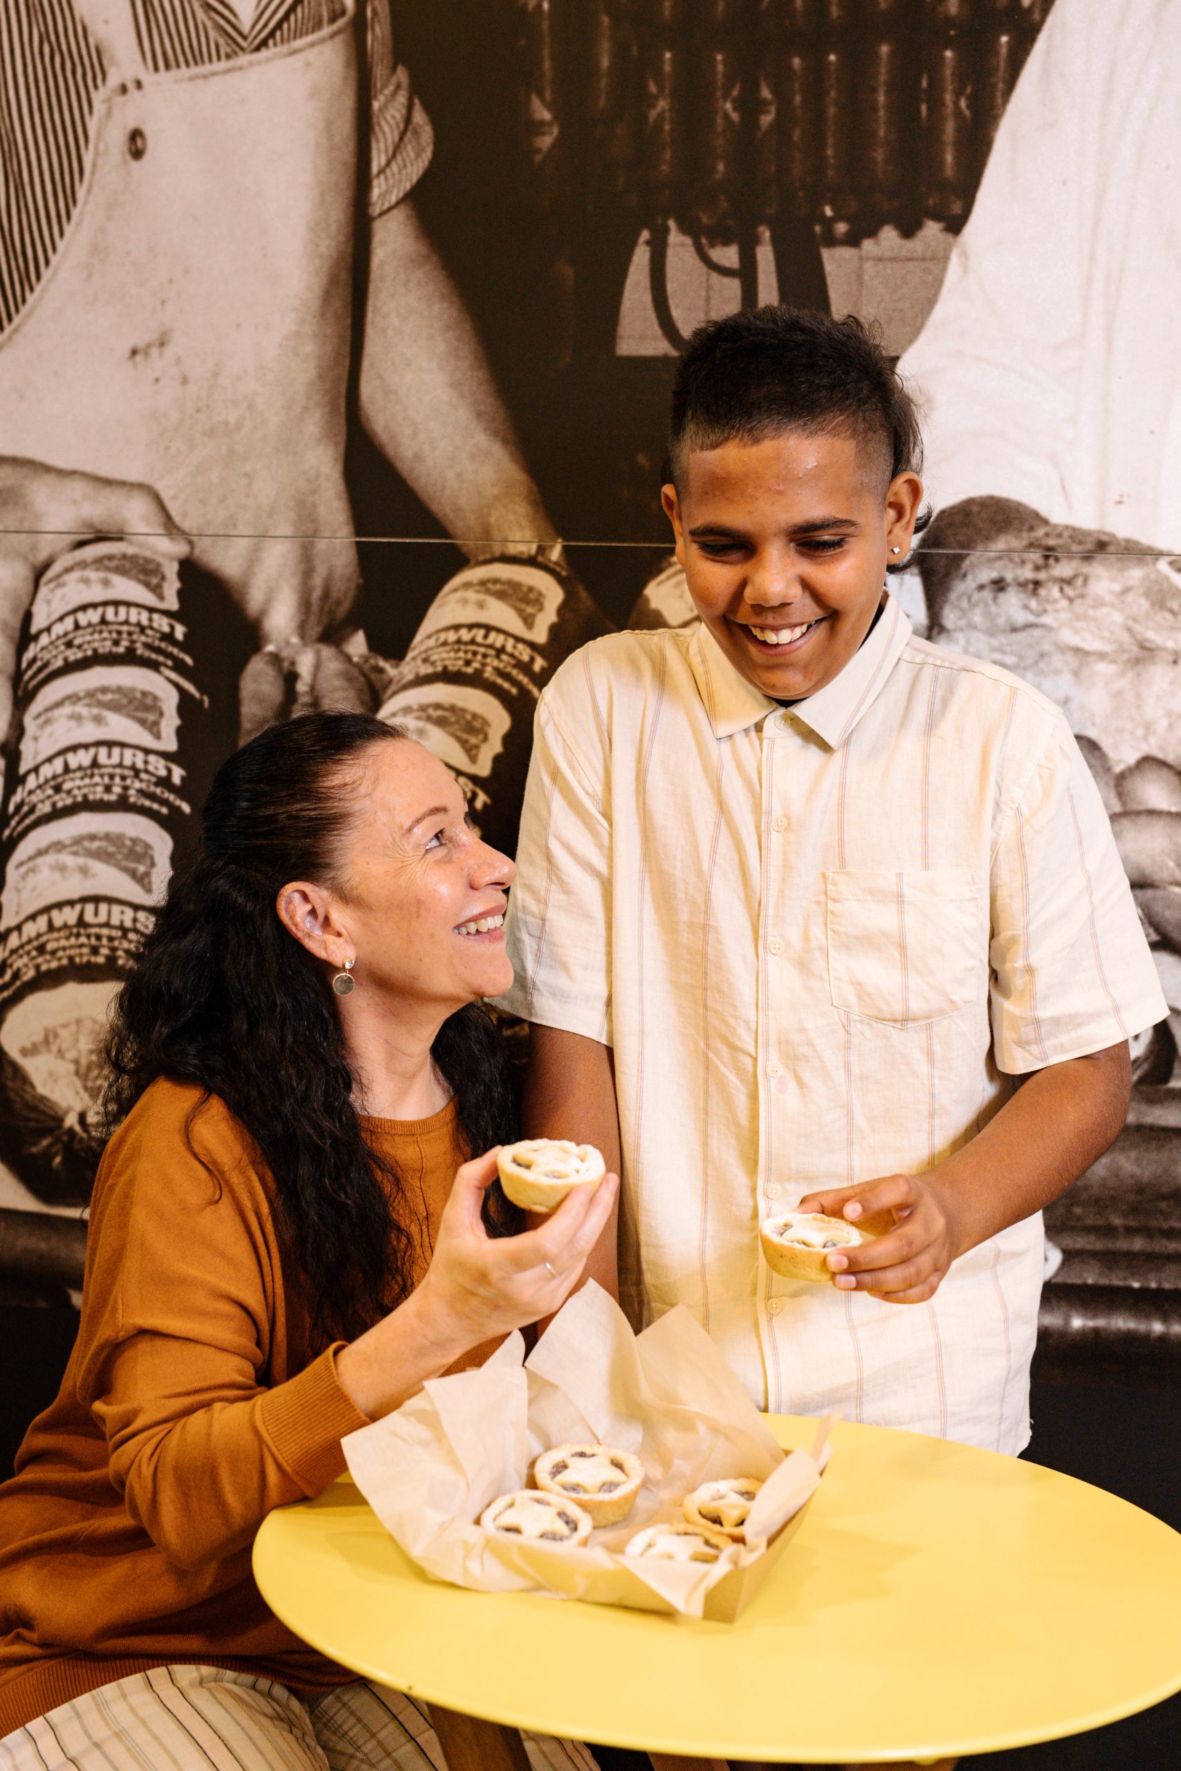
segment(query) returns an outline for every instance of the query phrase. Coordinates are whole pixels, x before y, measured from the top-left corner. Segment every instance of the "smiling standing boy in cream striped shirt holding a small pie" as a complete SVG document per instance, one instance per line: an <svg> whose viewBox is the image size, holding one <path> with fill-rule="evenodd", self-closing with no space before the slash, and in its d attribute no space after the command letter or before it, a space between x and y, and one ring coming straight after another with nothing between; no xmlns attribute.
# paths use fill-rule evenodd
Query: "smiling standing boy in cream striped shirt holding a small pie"
<svg viewBox="0 0 1181 1771"><path fill-rule="evenodd" d="M1167 1008L1061 712L884 590L919 466L857 321L694 335L662 498L701 625L544 692L505 1001L528 1130L621 1156L637 1325L687 1305L760 1408L1018 1452L1039 1208ZM885 1233L793 1286L758 1222L797 1204Z"/></svg>

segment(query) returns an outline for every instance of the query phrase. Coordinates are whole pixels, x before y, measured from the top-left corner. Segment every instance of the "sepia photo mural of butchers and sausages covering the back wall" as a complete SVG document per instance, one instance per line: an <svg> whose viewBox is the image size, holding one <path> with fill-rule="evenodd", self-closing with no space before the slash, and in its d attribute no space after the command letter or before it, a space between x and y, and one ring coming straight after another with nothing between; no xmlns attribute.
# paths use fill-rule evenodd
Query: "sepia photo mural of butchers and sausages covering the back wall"
<svg viewBox="0 0 1181 1771"><path fill-rule="evenodd" d="M1177 1013L1050 1213L1039 1357L1176 1371L1179 73L1170 0L0 0L5 1465L218 760L381 710L512 848L549 673L692 618L683 340L776 299L878 322L937 507L908 613L1103 790Z"/></svg>

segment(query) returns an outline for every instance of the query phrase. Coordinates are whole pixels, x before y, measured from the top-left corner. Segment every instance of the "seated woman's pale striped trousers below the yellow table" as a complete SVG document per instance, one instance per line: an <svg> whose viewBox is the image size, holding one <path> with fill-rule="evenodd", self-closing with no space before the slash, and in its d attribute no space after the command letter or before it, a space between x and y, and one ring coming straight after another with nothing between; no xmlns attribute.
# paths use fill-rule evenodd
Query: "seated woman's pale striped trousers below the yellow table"
<svg viewBox="0 0 1181 1771"><path fill-rule="evenodd" d="M524 1734L533 1771L595 1771L574 1741ZM342 1684L301 1704L273 1679L154 1667L0 1741L0 1771L446 1771L423 1704Z"/></svg>

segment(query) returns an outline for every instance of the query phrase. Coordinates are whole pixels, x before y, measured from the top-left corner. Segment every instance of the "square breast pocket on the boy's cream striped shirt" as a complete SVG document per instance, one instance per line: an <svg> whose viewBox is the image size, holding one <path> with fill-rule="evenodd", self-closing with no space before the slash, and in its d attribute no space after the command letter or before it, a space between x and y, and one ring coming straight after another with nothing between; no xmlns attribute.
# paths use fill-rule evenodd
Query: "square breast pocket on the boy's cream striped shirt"
<svg viewBox="0 0 1181 1771"><path fill-rule="evenodd" d="M896 1025L977 1002L988 932L972 868L825 873L829 990L846 1015Z"/></svg>

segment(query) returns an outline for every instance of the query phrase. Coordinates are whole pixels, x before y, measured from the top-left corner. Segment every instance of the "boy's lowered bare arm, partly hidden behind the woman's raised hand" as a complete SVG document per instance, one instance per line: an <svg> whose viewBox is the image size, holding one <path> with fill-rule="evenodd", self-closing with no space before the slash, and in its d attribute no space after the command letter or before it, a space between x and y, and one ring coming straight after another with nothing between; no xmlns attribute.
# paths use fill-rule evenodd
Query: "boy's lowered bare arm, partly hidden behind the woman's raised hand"
<svg viewBox="0 0 1181 1771"><path fill-rule="evenodd" d="M568 1137L593 1144L607 1165L620 1172L620 1114L614 1100L611 1047L560 1027L529 1027L529 1071L521 1103L526 1137ZM583 1280L618 1296L616 1266L618 1208L593 1249Z"/></svg>

